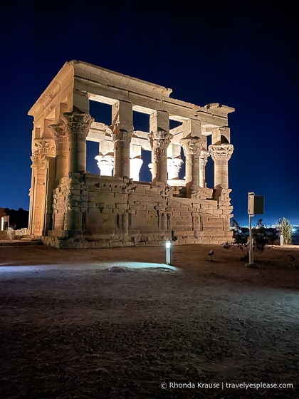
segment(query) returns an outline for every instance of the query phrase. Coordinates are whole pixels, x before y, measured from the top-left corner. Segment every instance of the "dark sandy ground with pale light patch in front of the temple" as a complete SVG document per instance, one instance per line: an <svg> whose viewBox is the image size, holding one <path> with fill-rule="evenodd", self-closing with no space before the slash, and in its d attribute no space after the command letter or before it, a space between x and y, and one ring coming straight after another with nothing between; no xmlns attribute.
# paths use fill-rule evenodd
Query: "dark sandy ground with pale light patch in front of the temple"
<svg viewBox="0 0 299 399"><path fill-rule="evenodd" d="M299 247L242 255L0 247L0 398L298 398Z"/></svg>

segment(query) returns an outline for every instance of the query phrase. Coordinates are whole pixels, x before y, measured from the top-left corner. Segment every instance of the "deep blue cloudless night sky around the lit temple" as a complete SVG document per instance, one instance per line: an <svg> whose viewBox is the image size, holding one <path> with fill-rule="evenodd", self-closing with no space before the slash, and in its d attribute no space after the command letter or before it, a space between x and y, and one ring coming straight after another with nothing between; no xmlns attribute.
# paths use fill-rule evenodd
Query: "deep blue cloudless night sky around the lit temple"
<svg viewBox="0 0 299 399"><path fill-rule="evenodd" d="M255 192L265 195L265 214L253 224L259 218L273 224L279 217L299 224L295 6L97 3L15 1L2 6L0 207L28 209L33 118L27 113L64 63L76 59L172 88L172 98L236 108L229 114L234 218L248 224L247 195ZM142 120L137 124L135 129L141 129ZM96 150L88 145L93 173L98 172ZM208 172L208 187L212 180Z"/></svg>

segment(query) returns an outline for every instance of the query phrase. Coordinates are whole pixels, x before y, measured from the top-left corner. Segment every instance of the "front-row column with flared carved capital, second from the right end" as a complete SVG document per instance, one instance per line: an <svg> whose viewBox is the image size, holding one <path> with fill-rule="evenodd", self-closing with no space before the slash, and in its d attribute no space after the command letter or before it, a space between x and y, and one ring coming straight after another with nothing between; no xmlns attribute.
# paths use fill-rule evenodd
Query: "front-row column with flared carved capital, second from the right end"
<svg viewBox="0 0 299 399"><path fill-rule="evenodd" d="M199 187L199 154L202 140L199 137L183 138L180 140L186 157L186 188L187 197L191 196L192 187Z"/></svg>

